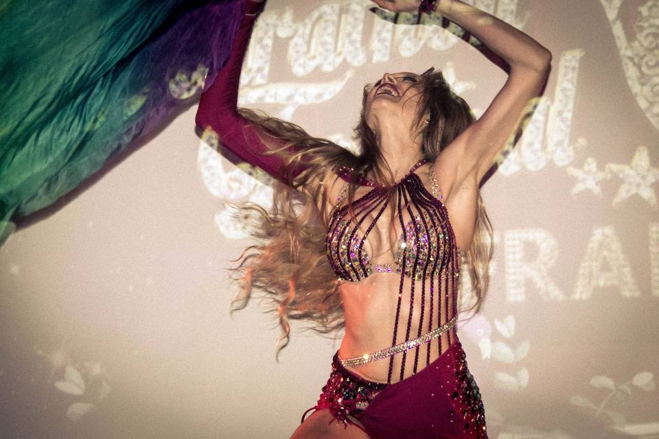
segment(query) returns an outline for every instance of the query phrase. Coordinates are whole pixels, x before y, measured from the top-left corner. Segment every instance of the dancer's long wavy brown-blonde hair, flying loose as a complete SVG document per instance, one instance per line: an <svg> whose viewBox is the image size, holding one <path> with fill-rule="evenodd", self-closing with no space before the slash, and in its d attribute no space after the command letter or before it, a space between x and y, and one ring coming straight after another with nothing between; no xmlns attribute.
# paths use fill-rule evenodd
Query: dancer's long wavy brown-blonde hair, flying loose
<svg viewBox="0 0 659 439"><path fill-rule="evenodd" d="M415 128L422 134L422 153L432 162L474 121L474 116L464 99L451 91L441 71L430 69L420 78L421 97ZM325 250L329 217L327 195L323 185L316 185L314 193L310 194L299 189L308 187L312 179L324 181L328 172L336 176L339 167L354 169L354 177L371 175L376 181L391 179L375 133L365 119L363 104L369 87L364 88L362 112L354 129L362 149L360 155L332 141L312 137L294 123L239 109L242 117L259 127L260 137L270 149L268 154L283 159L285 165L277 177L288 185L275 182L270 211L253 203L233 204L240 209L240 220L247 222L246 229L256 244L248 246L230 268L232 278L242 284L233 298L231 310L244 308L253 292L261 292L268 302L267 310L276 313L281 327L277 355L290 340L291 319L310 322L308 329L324 334L344 327L338 282ZM277 139L279 146L272 146L275 142L270 140L273 139ZM296 169L303 171L296 173ZM356 185L351 185L347 203L354 200L355 190ZM319 209L318 206L323 207ZM474 296L469 309L478 311L485 295L492 242L492 224L479 193L476 233L466 252Z"/></svg>

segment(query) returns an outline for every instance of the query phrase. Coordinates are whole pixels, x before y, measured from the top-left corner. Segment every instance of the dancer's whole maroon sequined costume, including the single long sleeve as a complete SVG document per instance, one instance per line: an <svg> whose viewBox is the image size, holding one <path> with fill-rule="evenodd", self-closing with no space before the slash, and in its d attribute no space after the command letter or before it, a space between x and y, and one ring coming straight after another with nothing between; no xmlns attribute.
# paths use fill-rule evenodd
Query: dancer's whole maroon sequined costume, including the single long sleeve
<svg viewBox="0 0 659 439"><path fill-rule="evenodd" d="M257 12L252 2L247 5ZM257 128L236 111L254 20L245 16L229 63L201 97L196 122L216 132L238 158L281 178L280 159L263 154L266 146ZM303 420L311 410L328 409L339 422L358 425L374 438L487 438L481 394L454 327L460 250L434 174L428 191L415 172L423 165L426 161L417 163L393 188L355 179L350 169L337 170L345 183L325 241L336 275L345 283L375 274L400 277L395 313L382 316L395 322L391 344L382 346L382 355L365 355L369 361L389 361L389 374L386 383L364 379L348 370L337 352L319 401ZM372 189L350 205L341 204L350 184ZM395 212L395 252L392 261L375 261L367 238L377 222L389 220L388 207Z"/></svg>

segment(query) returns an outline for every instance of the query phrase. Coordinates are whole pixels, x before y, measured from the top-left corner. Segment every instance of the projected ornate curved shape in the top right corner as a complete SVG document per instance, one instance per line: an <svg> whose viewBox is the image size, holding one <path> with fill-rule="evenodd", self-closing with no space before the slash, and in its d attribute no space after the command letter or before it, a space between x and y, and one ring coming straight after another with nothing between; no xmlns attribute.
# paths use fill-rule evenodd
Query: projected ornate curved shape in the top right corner
<svg viewBox="0 0 659 439"><path fill-rule="evenodd" d="M600 0L608 16L629 89L638 106L659 130L659 0L638 8L634 40L628 41L618 10L621 0Z"/></svg>

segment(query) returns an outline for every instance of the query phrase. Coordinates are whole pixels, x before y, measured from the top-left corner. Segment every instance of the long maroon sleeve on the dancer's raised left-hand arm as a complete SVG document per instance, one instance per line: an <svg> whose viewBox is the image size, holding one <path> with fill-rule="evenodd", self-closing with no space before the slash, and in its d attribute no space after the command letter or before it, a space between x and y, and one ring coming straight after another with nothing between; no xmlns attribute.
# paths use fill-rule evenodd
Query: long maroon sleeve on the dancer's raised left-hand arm
<svg viewBox="0 0 659 439"><path fill-rule="evenodd" d="M220 69L216 80L200 98L195 117L196 125L201 130L212 128L224 148L231 151L243 161L255 165L270 176L284 180L280 174L284 160L277 156L266 155L268 147L259 139L261 128L248 126L250 121L238 114L238 86L240 70L245 51L252 33L252 27L265 2L245 1L245 15L233 40L231 56L227 64ZM253 14L253 15L249 15ZM270 139L272 139L270 137ZM272 143L277 145L277 140ZM292 174L297 176L303 169L298 168Z"/></svg>

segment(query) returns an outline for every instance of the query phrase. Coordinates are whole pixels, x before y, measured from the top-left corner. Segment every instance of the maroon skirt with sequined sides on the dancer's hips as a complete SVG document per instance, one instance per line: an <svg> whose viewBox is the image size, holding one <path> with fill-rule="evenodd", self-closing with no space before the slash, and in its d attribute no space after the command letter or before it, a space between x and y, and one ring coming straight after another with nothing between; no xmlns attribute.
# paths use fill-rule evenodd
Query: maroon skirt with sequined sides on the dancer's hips
<svg viewBox="0 0 659 439"><path fill-rule="evenodd" d="M459 340L415 375L393 384L350 372L337 351L318 403L302 420L311 410L324 408L372 438L487 439L481 393Z"/></svg>

